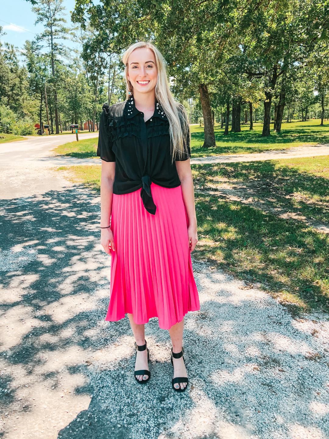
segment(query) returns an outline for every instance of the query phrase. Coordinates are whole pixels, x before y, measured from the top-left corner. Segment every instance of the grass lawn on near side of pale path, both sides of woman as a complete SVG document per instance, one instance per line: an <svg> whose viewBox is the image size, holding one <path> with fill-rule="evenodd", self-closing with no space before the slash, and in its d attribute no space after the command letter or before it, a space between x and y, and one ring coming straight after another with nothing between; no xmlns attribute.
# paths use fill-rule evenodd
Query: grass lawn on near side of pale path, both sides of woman
<svg viewBox="0 0 329 439"><path fill-rule="evenodd" d="M251 178L258 186L263 181L275 181L278 203L283 202L284 194L300 186L300 193L311 203L317 197L322 200L324 206L319 207L317 214L325 215L328 158L282 162L192 165L191 168L196 189L216 180L216 176ZM100 191L100 166L62 166L58 170L73 182ZM264 191L266 194L266 185ZM328 235L304 223L281 219L252 205L228 202L211 194L196 192L195 203L199 237L193 252L196 259L211 261L214 266L268 290L294 314L320 307L328 312ZM303 204L306 206L306 201ZM315 214L311 206L309 212Z"/></svg>

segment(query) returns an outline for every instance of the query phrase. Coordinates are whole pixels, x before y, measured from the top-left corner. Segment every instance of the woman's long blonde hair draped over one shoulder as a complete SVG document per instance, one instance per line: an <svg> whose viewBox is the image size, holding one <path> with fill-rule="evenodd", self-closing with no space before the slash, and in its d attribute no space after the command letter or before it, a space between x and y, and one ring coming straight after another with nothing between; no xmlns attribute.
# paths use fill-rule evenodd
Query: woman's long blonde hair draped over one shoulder
<svg viewBox="0 0 329 439"><path fill-rule="evenodd" d="M133 93L133 87L127 79L128 59L133 50L140 47L146 47L153 51L157 65L157 85L155 86L155 97L169 121L169 133L172 145L172 162L182 158L182 154L187 151L186 141L189 138L191 142L189 118L184 105L176 102L169 88L167 77L167 61L165 61L161 52L149 41L138 41L131 44L122 56L122 62L125 65L125 82L127 84L126 99L129 99L128 92ZM190 144L190 143L189 143ZM176 156L177 154L177 156ZM178 158L179 157L179 158Z"/></svg>

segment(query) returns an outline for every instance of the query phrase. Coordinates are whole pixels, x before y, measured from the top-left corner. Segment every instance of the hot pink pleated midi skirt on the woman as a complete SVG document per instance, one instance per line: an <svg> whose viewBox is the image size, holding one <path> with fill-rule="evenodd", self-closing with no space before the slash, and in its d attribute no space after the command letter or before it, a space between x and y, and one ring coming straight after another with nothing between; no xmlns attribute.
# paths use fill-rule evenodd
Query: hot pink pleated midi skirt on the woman
<svg viewBox="0 0 329 439"><path fill-rule="evenodd" d="M170 329L188 311L200 309L182 187L151 183L155 215L145 209L140 191L113 194L115 252L111 250L105 320L117 321L131 313L136 324L157 317L161 329Z"/></svg>

